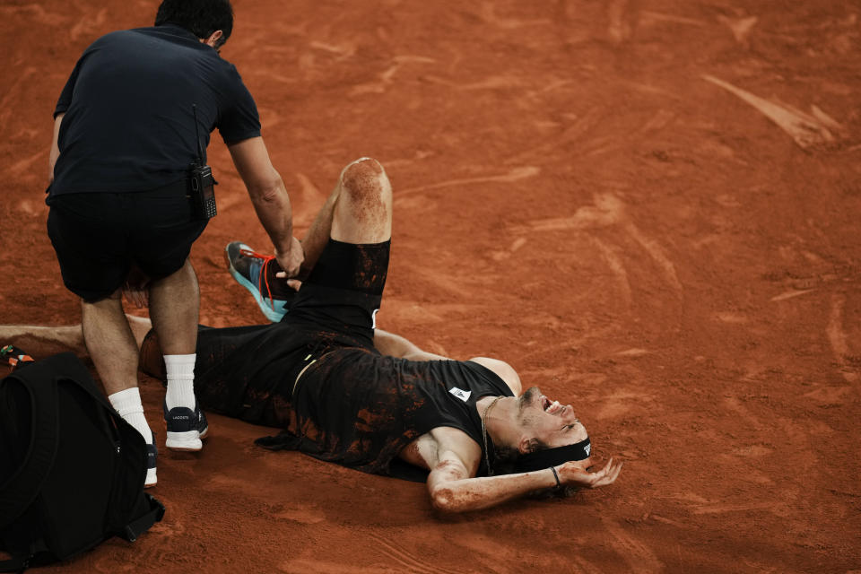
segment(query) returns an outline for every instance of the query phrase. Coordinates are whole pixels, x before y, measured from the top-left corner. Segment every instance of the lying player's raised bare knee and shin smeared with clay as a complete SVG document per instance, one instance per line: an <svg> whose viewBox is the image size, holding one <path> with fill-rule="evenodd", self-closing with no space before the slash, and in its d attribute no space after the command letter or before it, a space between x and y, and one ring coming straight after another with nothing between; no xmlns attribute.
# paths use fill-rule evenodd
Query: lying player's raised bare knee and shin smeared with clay
<svg viewBox="0 0 861 574"><path fill-rule="evenodd" d="M392 186L378 161L361 158L341 171L332 194L317 213L302 247L303 267L312 268L329 238L380 243L392 236Z"/></svg>

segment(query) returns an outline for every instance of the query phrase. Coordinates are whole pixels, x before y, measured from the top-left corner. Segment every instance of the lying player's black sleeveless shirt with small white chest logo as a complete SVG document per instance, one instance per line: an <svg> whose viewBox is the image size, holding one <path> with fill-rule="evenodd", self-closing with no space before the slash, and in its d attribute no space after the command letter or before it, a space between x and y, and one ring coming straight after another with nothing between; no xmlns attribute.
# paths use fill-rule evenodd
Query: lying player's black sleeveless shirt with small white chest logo
<svg viewBox="0 0 861 574"><path fill-rule="evenodd" d="M414 439L439 427L464 431L484 451L475 402L513 396L493 371L473 361L407 361L344 348L311 364L291 397L293 421L266 448L300 450L371 474L424 480L397 458ZM479 474L486 474L483 452Z"/></svg>

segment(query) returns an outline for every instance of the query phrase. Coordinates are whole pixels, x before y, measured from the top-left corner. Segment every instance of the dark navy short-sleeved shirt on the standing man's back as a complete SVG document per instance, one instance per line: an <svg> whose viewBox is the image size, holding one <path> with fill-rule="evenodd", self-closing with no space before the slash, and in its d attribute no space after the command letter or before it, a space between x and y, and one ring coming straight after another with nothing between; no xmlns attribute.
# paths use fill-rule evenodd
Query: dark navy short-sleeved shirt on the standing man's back
<svg viewBox="0 0 861 574"><path fill-rule="evenodd" d="M57 101L65 112L51 196L146 191L186 177L196 158L192 104L204 149L260 135L236 67L172 24L112 32L92 43Z"/></svg>

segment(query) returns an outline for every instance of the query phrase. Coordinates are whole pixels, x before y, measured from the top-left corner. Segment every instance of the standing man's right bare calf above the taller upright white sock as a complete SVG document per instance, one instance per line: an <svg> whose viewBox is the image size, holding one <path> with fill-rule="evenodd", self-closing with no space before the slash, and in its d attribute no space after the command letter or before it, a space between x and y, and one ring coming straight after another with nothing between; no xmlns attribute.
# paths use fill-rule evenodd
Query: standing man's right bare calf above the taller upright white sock
<svg viewBox="0 0 861 574"><path fill-rule="evenodd" d="M164 354L195 352L199 309L197 276L188 260L176 273L152 282L150 316Z"/></svg>

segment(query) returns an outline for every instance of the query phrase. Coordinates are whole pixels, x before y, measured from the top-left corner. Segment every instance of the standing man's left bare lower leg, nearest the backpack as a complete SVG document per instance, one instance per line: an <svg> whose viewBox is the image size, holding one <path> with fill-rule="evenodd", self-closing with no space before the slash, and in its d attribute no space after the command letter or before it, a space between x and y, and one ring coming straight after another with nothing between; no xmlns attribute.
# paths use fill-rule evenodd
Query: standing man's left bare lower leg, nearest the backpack
<svg viewBox="0 0 861 574"><path fill-rule="evenodd" d="M122 291L81 301L83 340L108 395L137 387L137 344L123 312Z"/></svg>

